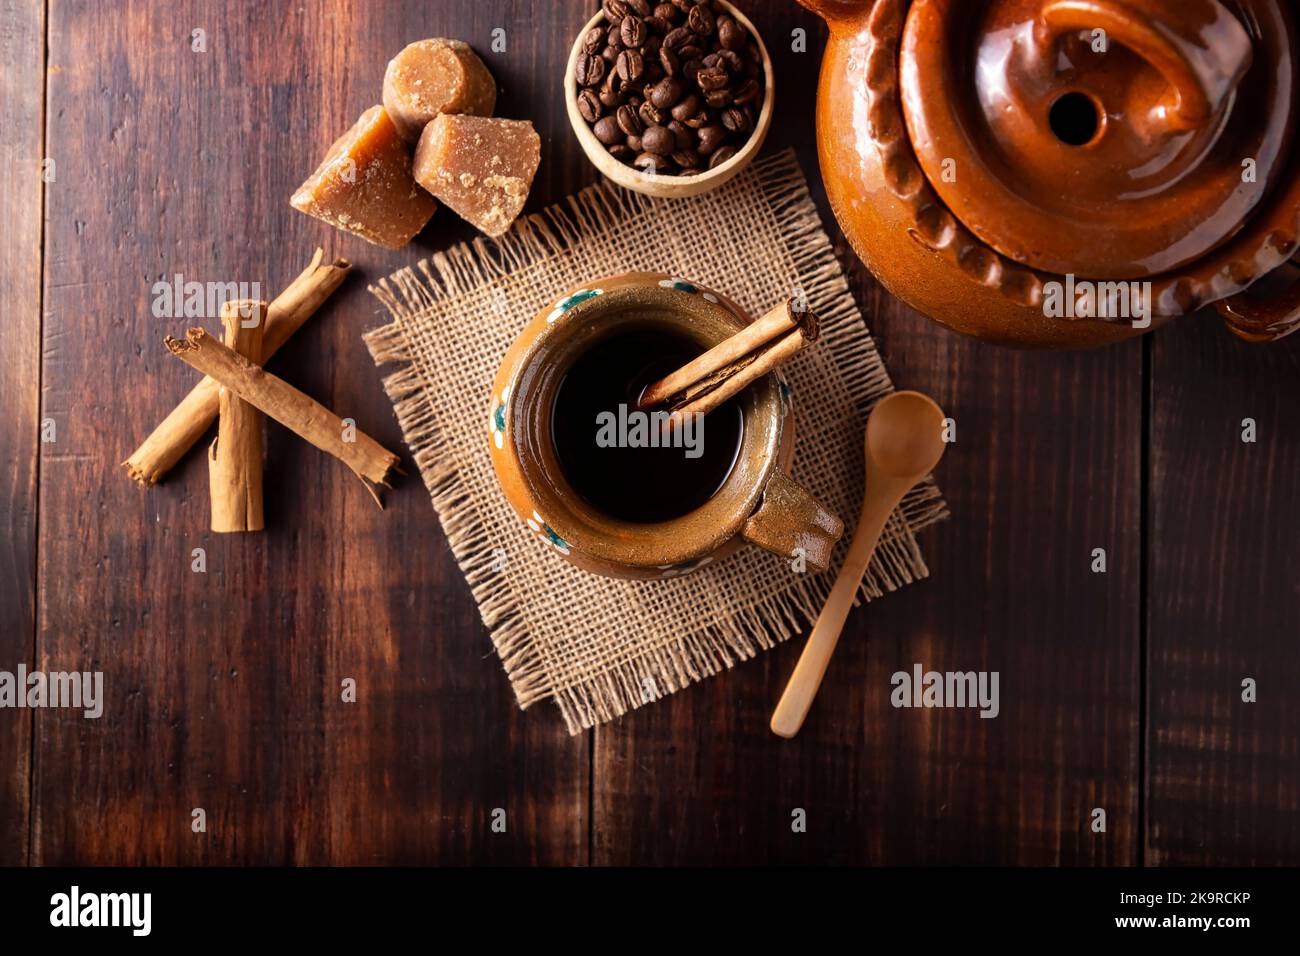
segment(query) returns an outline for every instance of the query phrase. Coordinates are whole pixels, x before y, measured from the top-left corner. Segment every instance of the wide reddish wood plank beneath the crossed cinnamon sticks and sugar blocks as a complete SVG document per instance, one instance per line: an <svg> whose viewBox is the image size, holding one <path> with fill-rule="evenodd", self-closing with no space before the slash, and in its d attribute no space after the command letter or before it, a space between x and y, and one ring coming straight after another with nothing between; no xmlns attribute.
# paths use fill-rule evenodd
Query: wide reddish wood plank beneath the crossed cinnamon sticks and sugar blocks
<svg viewBox="0 0 1300 956"><path fill-rule="evenodd" d="M273 367L400 447L360 339L382 320L364 284L469 229L443 212L389 254L287 198L378 100L387 59L430 35L472 42L498 112L538 124L533 206L578 189L554 88L555 38L581 20L568 4L468 0L52 7L44 377L60 444L40 473L38 659L104 670L108 704L98 722L38 718L36 862L586 858L588 743L517 711L417 476L380 511L272 427L266 532L213 536L202 454L148 492L118 467L192 382L161 346L188 323L151 316L152 282L261 280L273 294L316 243L365 276ZM489 51L495 27L506 55ZM344 678L356 704L341 702Z"/></svg>

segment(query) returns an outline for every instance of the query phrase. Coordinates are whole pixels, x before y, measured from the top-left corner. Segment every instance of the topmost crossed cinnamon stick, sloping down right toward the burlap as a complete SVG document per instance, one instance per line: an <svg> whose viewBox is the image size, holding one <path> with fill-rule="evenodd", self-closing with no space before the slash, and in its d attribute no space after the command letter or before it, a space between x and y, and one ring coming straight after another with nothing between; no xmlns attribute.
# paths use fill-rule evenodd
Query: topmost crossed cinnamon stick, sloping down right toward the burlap
<svg viewBox="0 0 1300 956"><path fill-rule="evenodd" d="M183 339L168 336L164 341L172 354L187 365L214 378L268 418L343 462L365 483L376 503L384 506L374 485L389 486L389 473L396 468L399 459L374 438L360 429L344 427L343 420L324 405L203 329L190 329Z"/></svg>

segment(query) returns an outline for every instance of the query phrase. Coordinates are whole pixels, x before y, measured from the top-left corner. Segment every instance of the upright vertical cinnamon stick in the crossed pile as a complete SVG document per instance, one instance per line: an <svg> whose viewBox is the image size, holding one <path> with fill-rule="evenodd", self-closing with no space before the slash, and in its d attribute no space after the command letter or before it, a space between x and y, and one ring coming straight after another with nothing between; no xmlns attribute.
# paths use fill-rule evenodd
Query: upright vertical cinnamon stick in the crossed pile
<svg viewBox="0 0 1300 956"><path fill-rule="evenodd" d="M266 303L237 299L221 306L225 343L246 359L261 362ZM208 446L212 529L261 531L261 412L222 386L217 437Z"/></svg>

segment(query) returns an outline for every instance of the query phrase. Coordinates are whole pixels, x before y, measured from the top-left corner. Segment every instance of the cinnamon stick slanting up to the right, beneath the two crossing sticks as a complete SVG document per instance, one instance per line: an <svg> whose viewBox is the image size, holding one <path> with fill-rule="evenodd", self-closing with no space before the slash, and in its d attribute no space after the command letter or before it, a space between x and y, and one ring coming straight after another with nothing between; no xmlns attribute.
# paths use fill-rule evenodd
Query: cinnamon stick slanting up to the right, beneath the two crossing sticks
<svg viewBox="0 0 1300 956"><path fill-rule="evenodd" d="M268 307L261 343L264 362L311 319L352 268L346 259L322 264L324 258L325 252L317 248L311 264ZM218 393L220 385L211 378L195 385L144 444L122 462L126 472L150 486L170 471L212 425L217 416Z"/></svg>

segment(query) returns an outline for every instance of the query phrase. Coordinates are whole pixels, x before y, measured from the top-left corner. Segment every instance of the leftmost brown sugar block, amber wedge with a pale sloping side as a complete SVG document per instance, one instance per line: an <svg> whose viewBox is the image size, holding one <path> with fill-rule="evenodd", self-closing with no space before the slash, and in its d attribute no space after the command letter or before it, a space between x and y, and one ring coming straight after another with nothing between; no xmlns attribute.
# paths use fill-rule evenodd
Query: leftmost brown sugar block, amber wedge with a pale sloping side
<svg viewBox="0 0 1300 956"><path fill-rule="evenodd" d="M361 113L289 202L389 248L406 246L438 208L411 177L411 148L384 107Z"/></svg>

